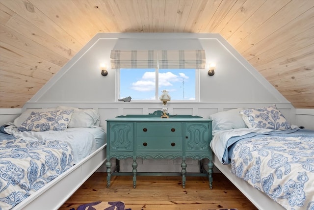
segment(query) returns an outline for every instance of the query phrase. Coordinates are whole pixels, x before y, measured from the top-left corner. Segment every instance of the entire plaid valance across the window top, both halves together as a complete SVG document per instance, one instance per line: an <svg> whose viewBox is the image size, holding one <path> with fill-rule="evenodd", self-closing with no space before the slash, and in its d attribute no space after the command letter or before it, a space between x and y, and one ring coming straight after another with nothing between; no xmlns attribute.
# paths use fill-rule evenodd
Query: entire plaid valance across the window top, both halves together
<svg viewBox="0 0 314 210"><path fill-rule="evenodd" d="M112 50L112 69L204 69L204 50Z"/></svg>

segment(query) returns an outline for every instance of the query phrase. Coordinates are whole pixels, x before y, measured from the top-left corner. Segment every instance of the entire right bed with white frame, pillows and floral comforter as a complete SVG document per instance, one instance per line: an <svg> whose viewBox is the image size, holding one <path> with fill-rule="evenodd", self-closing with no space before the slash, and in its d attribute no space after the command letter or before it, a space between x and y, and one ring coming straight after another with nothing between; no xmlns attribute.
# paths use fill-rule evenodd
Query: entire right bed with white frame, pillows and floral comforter
<svg viewBox="0 0 314 210"><path fill-rule="evenodd" d="M213 163L259 209L314 209L314 131L276 105L210 116Z"/></svg>

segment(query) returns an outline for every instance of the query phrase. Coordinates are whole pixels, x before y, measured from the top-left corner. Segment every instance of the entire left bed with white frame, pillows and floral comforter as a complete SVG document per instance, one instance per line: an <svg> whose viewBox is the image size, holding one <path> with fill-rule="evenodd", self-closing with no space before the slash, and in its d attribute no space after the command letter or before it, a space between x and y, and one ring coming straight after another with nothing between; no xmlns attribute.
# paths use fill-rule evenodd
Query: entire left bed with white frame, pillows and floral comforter
<svg viewBox="0 0 314 210"><path fill-rule="evenodd" d="M58 209L105 161L93 109L28 109L0 129L0 209Z"/></svg>

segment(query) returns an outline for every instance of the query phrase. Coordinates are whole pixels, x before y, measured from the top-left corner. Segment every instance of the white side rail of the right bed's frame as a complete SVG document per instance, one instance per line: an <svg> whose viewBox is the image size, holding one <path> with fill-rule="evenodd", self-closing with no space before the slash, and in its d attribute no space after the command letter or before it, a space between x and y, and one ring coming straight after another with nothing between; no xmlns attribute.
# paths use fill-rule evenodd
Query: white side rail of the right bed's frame
<svg viewBox="0 0 314 210"><path fill-rule="evenodd" d="M237 178L231 173L230 166L222 164L215 155L213 156L213 163L259 210L286 210L263 192L255 189L244 180Z"/></svg>

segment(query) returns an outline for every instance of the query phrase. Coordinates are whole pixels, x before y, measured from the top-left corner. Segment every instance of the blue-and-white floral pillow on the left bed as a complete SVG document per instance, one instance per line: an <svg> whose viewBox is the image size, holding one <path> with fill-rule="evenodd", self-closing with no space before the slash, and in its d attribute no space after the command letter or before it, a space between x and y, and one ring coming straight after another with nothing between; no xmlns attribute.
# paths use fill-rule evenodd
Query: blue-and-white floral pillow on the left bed
<svg viewBox="0 0 314 210"><path fill-rule="evenodd" d="M46 112L32 111L18 128L19 131L64 131L70 122L73 109Z"/></svg>

